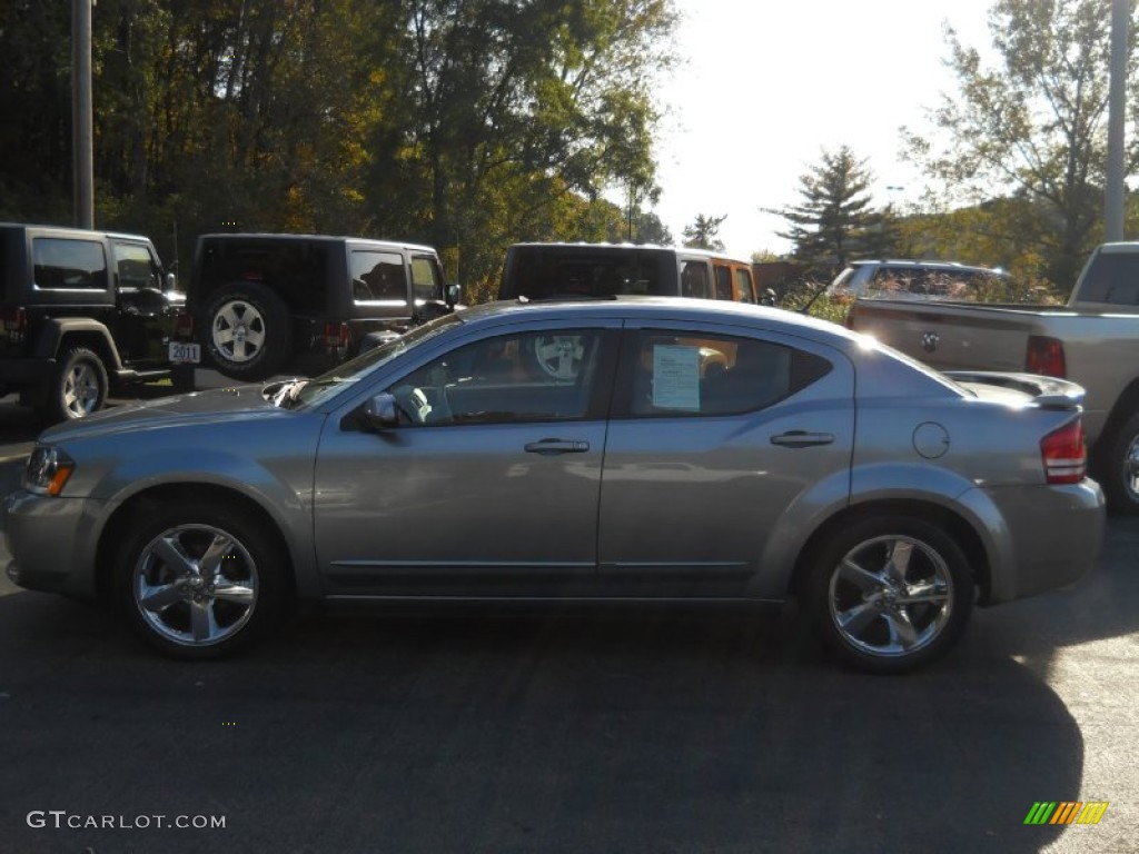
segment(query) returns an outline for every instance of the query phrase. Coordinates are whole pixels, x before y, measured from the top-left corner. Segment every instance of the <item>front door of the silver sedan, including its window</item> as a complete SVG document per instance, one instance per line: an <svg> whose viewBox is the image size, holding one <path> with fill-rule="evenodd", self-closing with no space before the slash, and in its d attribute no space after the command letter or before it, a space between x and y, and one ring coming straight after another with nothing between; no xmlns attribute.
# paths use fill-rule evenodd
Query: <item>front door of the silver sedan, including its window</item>
<svg viewBox="0 0 1139 854"><path fill-rule="evenodd" d="M375 392L400 422L330 419L316 465L331 596L556 597L596 583L616 322L468 340ZM370 399L370 394L368 397Z"/></svg>

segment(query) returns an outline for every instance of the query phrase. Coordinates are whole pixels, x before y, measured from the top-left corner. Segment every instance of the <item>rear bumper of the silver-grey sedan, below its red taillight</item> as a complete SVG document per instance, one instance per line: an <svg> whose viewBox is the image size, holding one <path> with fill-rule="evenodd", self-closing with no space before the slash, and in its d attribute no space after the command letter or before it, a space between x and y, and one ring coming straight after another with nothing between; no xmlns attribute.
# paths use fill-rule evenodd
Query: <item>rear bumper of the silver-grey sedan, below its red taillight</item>
<svg viewBox="0 0 1139 854"><path fill-rule="evenodd" d="M1002 520L991 544L985 603L1065 588L1095 565L1104 542L1104 493L1095 481L993 486L982 493ZM1001 529L1002 528L1002 529Z"/></svg>

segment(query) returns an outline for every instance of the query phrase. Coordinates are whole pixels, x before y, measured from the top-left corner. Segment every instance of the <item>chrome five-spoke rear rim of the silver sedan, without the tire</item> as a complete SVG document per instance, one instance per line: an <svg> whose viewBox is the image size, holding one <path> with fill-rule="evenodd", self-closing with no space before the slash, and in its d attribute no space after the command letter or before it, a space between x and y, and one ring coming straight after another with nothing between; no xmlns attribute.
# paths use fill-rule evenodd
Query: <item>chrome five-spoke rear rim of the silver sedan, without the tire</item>
<svg viewBox="0 0 1139 854"><path fill-rule="evenodd" d="M911 536L858 543L834 567L827 597L842 641L878 658L904 658L936 640L953 616L945 558Z"/></svg>

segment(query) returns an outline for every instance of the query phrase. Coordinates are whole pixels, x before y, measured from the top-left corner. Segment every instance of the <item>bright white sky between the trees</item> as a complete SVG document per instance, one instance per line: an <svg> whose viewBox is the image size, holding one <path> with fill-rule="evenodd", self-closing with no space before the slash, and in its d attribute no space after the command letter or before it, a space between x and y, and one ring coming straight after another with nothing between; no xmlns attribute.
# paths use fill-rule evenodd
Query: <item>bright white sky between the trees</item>
<svg viewBox="0 0 1139 854"><path fill-rule="evenodd" d="M728 215L732 254L786 252L786 228L761 207L801 200L822 149L847 145L877 178L874 202L921 195L899 129L956 91L943 24L982 52L992 0L675 0L678 54L665 81L656 213L679 243L696 214ZM887 190L887 187L902 189Z"/></svg>

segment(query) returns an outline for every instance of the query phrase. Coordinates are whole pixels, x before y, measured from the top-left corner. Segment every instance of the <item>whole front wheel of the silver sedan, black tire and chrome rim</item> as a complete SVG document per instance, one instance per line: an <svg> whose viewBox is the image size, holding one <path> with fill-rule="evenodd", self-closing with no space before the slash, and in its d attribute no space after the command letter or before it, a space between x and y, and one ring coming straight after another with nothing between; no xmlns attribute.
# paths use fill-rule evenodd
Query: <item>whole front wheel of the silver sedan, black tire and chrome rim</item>
<svg viewBox="0 0 1139 854"><path fill-rule="evenodd" d="M187 502L147 512L126 533L114 589L147 643L200 660L270 631L287 577L284 548L263 524L238 507Z"/></svg>

